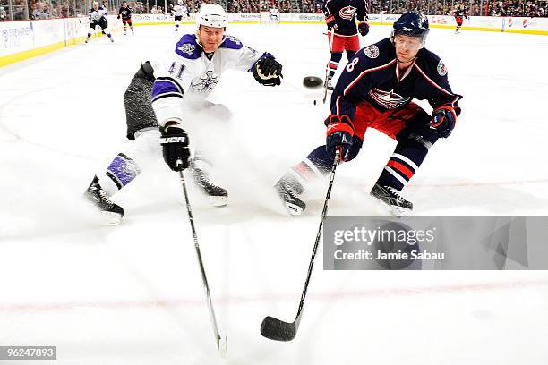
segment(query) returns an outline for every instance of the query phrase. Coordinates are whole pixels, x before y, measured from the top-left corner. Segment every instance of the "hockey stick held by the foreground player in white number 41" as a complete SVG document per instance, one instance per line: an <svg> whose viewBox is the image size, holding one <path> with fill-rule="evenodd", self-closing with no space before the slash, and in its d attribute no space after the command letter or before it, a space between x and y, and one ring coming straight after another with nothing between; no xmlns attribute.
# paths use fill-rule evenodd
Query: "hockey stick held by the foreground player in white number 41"
<svg viewBox="0 0 548 365"><path fill-rule="evenodd" d="M183 161L178 160L177 166L183 165ZM188 213L188 219L193 231L194 249L196 249L196 256L198 257L198 264L200 265L201 281L206 293L206 301L208 302L208 308L210 310L211 324L213 325L213 333L215 335L215 342L220 356L223 359L227 359L227 337L221 337L218 332L217 319L215 318L215 310L213 310L213 302L211 301L210 285L208 284L208 278L205 274L205 268L203 267L203 259L201 259L200 245L198 244L198 235L196 234L196 227L194 226L193 210L190 206L190 200L188 199L188 191L186 191L186 183L184 183L183 170L179 171L179 179L184 191L184 201L186 202L186 212Z"/></svg>

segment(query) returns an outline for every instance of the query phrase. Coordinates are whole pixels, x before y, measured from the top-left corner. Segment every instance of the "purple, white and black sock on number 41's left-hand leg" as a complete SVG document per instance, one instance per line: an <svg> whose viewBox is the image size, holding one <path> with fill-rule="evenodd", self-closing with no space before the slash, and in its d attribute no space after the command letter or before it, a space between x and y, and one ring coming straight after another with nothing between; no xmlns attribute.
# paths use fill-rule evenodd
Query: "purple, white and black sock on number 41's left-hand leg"
<svg viewBox="0 0 548 365"><path fill-rule="evenodd" d="M139 174L141 167L130 157L119 153L107 167L105 174L99 177L99 184L109 196L112 196Z"/></svg>

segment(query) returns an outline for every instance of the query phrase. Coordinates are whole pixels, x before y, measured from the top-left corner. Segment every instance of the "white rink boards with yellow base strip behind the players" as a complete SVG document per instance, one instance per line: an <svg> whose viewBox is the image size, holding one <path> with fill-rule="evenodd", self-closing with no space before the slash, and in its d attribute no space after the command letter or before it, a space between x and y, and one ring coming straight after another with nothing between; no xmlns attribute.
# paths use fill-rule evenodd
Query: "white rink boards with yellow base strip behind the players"
<svg viewBox="0 0 548 365"><path fill-rule="evenodd" d="M399 14L370 14L372 25L391 25ZM454 28L452 16L429 15L432 28ZM231 23L258 25L260 14L229 14ZM193 24L193 14L183 24ZM323 14L281 14L280 22L286 24L321 24ZM115 15L108 17L109 29L116 33L122 22ZM166 14L135 14L134 25L173 24ZM7 21L0 23L0 67L44 55L63 47L83 42L89 29L87 18L65 18L41 21ZM266 26L270 26L267 24ZM272 25L278 26L278 25ZM464 21L463 30L480 30L507 33L548 35L548 18L481 17L472 16Z"/></svg>

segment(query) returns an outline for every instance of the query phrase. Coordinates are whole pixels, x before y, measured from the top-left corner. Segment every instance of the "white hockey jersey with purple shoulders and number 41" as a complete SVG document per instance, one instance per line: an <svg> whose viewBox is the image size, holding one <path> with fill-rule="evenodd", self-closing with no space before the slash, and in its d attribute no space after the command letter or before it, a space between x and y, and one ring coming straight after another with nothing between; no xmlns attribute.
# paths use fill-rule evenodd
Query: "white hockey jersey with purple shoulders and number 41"
<svg viewBox="0 0 548 365"><path fill-rule="evenodd" d="M235 37L226 36L211 59L203 51L195 34L184 35L171 58L155 68L152 107L160 125L183 122L183 98L205 99L215 89L227 69L249 72L261 54Z"/></svg>

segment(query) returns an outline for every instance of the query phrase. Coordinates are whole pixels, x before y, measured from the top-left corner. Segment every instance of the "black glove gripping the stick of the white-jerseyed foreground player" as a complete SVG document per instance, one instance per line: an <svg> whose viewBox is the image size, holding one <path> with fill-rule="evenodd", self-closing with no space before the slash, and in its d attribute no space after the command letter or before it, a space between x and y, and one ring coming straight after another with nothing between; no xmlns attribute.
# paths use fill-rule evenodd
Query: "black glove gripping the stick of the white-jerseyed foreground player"
<svg viewBox="0 0 548 365"><path fill-rule="evenodd" d="M160 144L163 148L164 161L173 171L184 170L189 165L190 149L188 148L188 135L184 129L176 125L160 127L162 138ZM178 161L182 165L178 164Z"/></svg>

